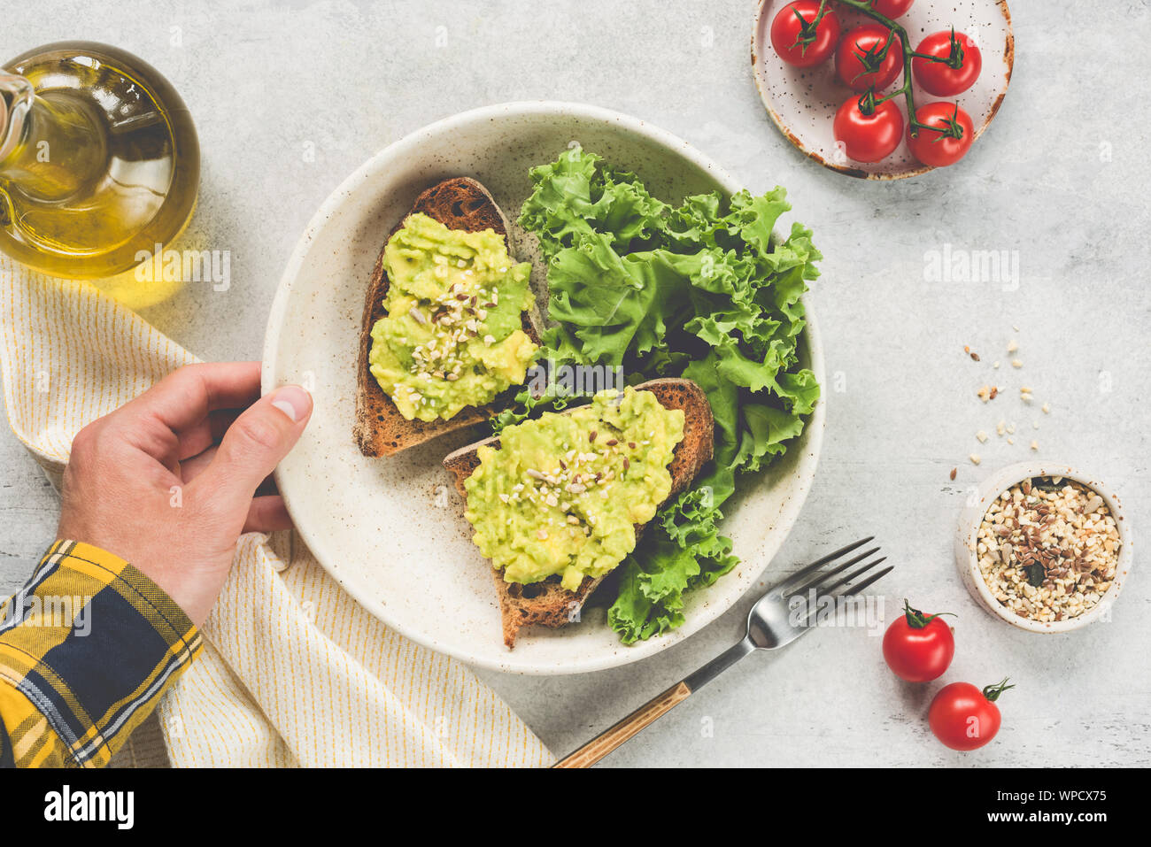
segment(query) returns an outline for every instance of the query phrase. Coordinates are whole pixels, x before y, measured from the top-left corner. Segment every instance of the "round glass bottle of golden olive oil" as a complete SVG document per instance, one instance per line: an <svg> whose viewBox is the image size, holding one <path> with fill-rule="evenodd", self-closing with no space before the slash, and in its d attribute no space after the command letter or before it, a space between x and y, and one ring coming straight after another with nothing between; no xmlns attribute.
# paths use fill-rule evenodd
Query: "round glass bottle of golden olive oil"
<svg viewBox="0 0 1151 847"><path fill-rule="evenodd" d="M199 178L188 107L131 54L62 41L0 68L0 250L21 264L130 270L183 231Z"/></svg>

